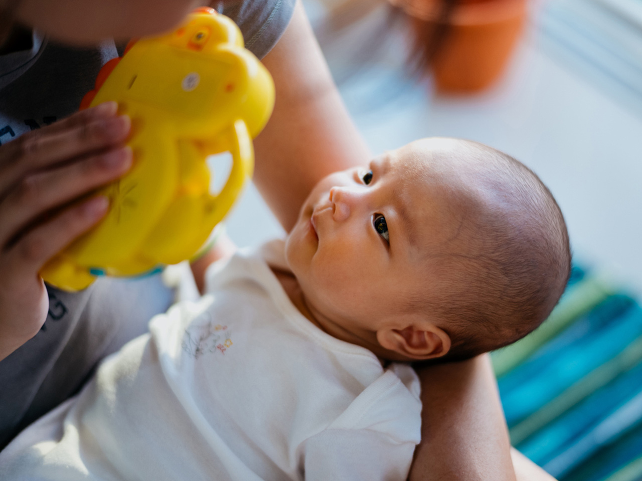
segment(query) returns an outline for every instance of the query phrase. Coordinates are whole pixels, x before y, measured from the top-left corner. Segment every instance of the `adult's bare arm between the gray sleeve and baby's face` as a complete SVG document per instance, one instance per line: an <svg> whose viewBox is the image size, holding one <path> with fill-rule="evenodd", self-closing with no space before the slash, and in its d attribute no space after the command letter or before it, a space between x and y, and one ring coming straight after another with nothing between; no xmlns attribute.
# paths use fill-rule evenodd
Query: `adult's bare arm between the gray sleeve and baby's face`
<svg viewBox="0 0 642 481"><path fill-rule="evenodd" d="M289 230L319 180L365 164L370 153L334 86L300 2L263 63L272 73L276 102L270 122L254 141L254 182Z"/></svg>

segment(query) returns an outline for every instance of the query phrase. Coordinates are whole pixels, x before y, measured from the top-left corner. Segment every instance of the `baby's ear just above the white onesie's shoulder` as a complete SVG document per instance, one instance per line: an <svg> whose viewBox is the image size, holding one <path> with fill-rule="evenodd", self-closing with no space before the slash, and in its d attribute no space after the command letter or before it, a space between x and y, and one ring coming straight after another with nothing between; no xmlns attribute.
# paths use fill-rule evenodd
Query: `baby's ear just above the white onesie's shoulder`
<svg viewBox="0 0 642 481"><path fill-rule="evenodd" d="M425 321L401 330L381 329L377 341L382 348L416 360L442 357L451 346L450 336L442 328Z"/></svg>

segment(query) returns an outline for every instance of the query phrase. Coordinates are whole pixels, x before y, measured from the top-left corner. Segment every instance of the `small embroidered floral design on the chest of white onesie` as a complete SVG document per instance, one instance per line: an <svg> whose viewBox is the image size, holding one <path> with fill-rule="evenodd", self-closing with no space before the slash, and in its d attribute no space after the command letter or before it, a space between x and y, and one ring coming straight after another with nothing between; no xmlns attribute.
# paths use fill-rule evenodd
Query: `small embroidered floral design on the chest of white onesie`
<svg viewBox="0 0 642 481"><path fill-rule="evenodd" d="M187 326L183 335L183 350L198 359L205 353L225 355L232 346L232 332L221 324L214 323L212 315L204 312Z"/></svg>

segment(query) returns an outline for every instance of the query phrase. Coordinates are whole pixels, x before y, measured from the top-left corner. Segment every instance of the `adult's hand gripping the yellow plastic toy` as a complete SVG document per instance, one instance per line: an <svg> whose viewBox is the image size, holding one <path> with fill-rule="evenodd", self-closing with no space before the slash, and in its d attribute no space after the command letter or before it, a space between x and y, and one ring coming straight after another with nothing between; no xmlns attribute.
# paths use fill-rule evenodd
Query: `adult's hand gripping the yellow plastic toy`
<svg viewBox="0 0 642 481"><path fill-rule="evenodd" d="M48 294L40 268L107 212L78 198L132 164L128 117L105 103L0 146L0 360L39 332Z"/></svg>

